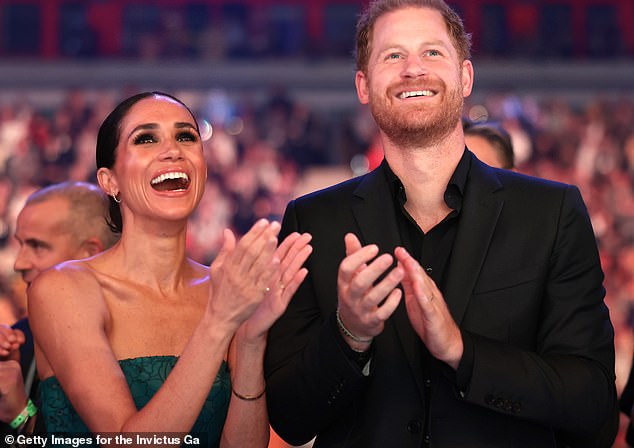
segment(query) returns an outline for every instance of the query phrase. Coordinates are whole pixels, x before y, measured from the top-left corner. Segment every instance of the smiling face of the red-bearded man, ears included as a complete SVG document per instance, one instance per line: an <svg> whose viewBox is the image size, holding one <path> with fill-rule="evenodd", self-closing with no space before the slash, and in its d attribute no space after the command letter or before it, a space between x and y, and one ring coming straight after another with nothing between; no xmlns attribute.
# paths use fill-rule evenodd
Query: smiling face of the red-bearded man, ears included
<svg viewBox="0 0 634 448"><path fill-rule="evenodd" d="M379 128L401 146L432 145L460 123L473 67L460 61L442 15L407 7L374 25L367 74L357 93Z"/></svg>

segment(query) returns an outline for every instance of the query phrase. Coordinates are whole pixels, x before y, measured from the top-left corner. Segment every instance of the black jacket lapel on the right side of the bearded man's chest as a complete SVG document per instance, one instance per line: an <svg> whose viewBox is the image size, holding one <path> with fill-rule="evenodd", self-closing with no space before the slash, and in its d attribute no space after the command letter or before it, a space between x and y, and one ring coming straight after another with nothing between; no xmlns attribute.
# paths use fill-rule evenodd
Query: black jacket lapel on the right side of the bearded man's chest
<svg viewBox="0 0 634 448"><path fill-rule="evenodd" d="M493 169L472 157L461 216L445 277L444 297L460 326L491 242L503 199Z"/></svg>

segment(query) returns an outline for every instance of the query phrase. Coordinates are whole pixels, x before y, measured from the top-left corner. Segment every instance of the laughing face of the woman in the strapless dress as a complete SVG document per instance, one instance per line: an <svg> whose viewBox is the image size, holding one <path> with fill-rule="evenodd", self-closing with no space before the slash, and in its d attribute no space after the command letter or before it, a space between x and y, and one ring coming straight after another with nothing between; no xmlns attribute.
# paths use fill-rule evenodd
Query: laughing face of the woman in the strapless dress
<svg viewBox="0 0 634 448"><path fill-rule="evenodd" d="M111 170L126 220L186 219L205 188L207 166L194 118L178 102L149 97L121 122L117 158ZM132 216L125 218L129 210Z"/></svg>

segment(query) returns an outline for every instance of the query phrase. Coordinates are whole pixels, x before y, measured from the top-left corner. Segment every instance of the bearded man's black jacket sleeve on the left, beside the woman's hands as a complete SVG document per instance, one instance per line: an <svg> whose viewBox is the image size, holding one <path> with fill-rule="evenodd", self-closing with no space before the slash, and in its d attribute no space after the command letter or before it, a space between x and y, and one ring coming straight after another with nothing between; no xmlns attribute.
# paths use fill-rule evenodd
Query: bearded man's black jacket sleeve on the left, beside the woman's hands
<svg viewBox="0 0 634 448"><path fill-rule="evenodd" d="M294 231L309 230L300 223L296 203L291 202L284 214L280 239ZM314 235L312 243L328 244ZM343 246L343 239L340 244ZM324 307L317 301L316 284L333 279L315 277L313 255L306 263L308 276L269 332L264 365L271 425L285 441L295 445L310 441L321 427L351 418L358 406L355 397L367 382L340 340L333 312L336 285L330 288L332 297L327 297L332 306ZM338 264L331 266L329 273ZM320 266L319 270L323 269Z"/></svg>

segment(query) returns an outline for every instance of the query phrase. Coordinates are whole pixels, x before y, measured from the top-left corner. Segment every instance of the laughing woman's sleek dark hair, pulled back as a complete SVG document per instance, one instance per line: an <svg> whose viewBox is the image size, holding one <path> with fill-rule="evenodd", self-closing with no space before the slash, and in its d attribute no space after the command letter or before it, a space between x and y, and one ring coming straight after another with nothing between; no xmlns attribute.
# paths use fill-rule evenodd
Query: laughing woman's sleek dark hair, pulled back
<svg viewBox="0 0 634 448"><path fill-rule="evenodd" d="M198 129L198 122L196 121L196 116L191 111L189 107L181 100L172 96L168 93L163 92L143 92L137 93L129 98L126 98L122 102L120 102L117 107L114 108L110 114L106 117L106 119L101 124L99 128L99 133L97 134L97 169L99 168L112 168L117 159L117 146L119 145L119 139L121 138L121 122L128 115L128 112L136 103L141 100L150 97L165 97L169 98L173 101L176 101L178 104L183 106L187 111L191 114L192 118L194 118L194 125L196 126L196 130ZM123 230L123 220L121 218L121 209L119 208L119 204L114 200L113 197L109 196L110 205L108 210L108 226L112 229L113 232L121 233Z"/></svg>

